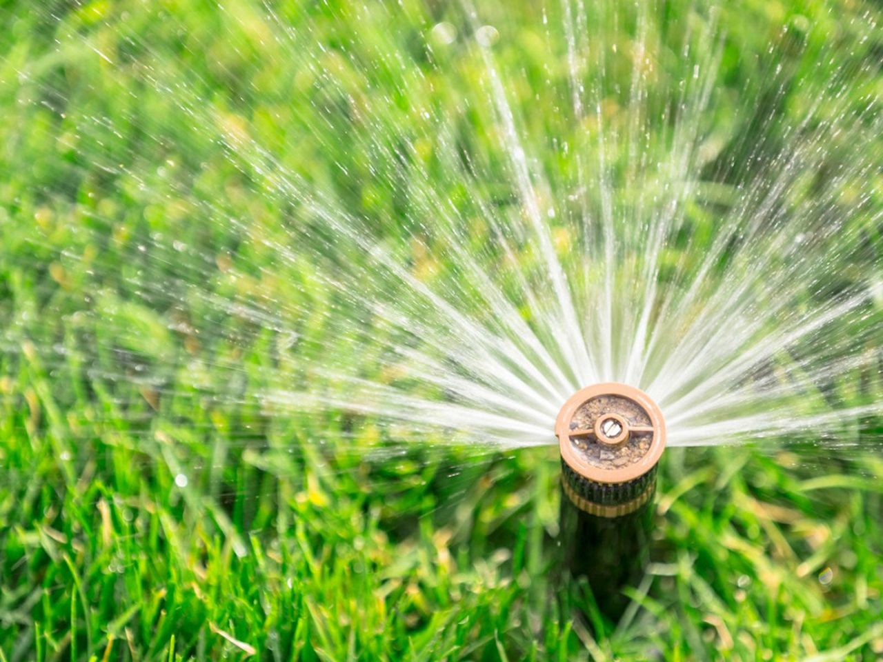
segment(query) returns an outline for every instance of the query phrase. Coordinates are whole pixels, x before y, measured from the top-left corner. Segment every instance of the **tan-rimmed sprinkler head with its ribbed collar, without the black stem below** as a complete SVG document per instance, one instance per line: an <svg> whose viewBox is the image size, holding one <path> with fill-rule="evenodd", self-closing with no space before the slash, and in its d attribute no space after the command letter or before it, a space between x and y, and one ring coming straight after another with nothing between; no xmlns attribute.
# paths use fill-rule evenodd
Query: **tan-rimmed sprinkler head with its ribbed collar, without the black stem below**
<svg viewBox="0 0 883 662"><path fill-rule="evenodd" d="M627 515L650 500L665 421L649 395L615 382L577 391L555 420L564 491L577 508Z"/></svg>

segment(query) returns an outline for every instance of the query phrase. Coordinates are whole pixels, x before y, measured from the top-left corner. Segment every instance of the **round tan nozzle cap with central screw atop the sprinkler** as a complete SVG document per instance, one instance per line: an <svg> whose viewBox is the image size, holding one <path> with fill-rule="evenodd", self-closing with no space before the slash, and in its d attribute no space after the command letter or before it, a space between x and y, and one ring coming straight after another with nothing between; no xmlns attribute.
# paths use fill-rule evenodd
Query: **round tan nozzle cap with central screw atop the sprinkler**
<svg viewBox="0 0 883 662"><path fill-rule="evenodd" d="M644 391L608 382L578 390L555 420L565 463L596 483L625 483L659 462L665 420Z"/></svg>

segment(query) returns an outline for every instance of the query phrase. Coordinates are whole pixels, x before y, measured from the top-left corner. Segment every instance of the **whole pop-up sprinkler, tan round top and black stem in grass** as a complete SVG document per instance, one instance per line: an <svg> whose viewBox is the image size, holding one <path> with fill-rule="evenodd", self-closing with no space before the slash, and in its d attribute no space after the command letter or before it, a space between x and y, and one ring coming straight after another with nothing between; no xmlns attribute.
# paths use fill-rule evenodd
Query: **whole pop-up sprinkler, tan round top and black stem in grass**
<svg viewBox="0 0 883 662"><path fill-rule="evenodd" d="M603 613L618 618L647 556L656 465L665 421L635 387L585 387L555 421L562 460L561 535L565 568L585 577Z"/></svg>

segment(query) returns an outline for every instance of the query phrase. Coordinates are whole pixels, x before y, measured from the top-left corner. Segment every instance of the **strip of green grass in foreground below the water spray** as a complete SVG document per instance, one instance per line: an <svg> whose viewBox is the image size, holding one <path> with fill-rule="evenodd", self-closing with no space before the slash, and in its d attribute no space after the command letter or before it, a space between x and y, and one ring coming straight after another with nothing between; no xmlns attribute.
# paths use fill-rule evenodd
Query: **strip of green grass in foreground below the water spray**
<svg viewBox="0 0 883 662"><path fill-rule="evenodd" d="M170 443L161 432L148 445L112 424L84 435L81 421L74 434L70 417L41 430L46 378L4 389L10 660L834 660L883 648L879 455L843 449L834 469L819 448L669 450L653 564L617 625L582 587L550 580L554 451L366 463L292 444L291 430L293 454L246 452L182 485L182 468L149 461ZM61 439L88 459L65 461ZM221 444L208 433L199 450L216 458Z"/></svg>

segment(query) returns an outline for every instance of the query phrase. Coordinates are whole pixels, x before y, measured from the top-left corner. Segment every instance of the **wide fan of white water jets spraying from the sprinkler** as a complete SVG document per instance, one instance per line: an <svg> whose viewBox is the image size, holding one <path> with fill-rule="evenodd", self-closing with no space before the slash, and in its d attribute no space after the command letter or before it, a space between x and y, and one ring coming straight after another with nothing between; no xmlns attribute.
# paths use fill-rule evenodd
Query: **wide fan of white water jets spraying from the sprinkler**
<svg viewBox="0 0 883 662"><path fill-rule="evenodd" d="M64 115L81 92L49 64L7 60L22 108L51 117L34 131L72 146L68 174L90 191L35 183L29 243L68 232L46 260L95 296L50 304L52 334L7 311L4 353L34 335L50 369L91 362L121 404L136 385L151 406L212 397L317 429L343 410L387 442L552 443L561 403L605 380L659 402L670 446L854 440L883 413L851 387L878 384L883 360L879 151L865 147L883 128L863 50L876 25L853 21L855 43L827 51L783 26L735 98L721 68L748 37L722 29L731 10L684 9L674 29L661 6L544 7L529 38L555 70L515 19L491 29L468 4L444 29L353 6L338 44L311 39L308 13L230 10L228 59L170 15L155 41L130 37L133 59L57 24L94 54L79 65L137 80L163 112L128 109L140 143L125 145L101 109ZM390 29L403 21L406 38ZM184 27L184 51L162 45ZM229 99L211 102L185 57ZM260 62L284 64L272 94ZM554 110L532 113L541 102ZM134 230L98 199L112 191ZM64 207L76 226L54 224ZM116 337L95 331L107 320ZM181 375L189 394L171 386Z"/></svg>

